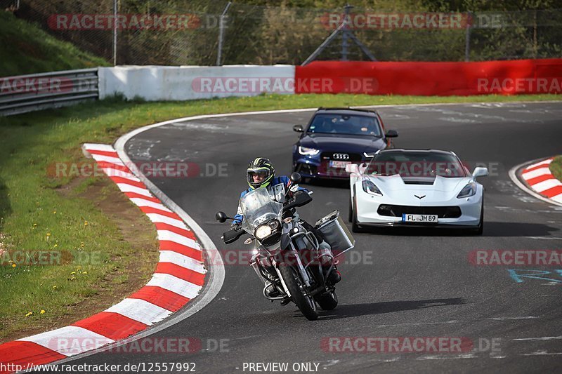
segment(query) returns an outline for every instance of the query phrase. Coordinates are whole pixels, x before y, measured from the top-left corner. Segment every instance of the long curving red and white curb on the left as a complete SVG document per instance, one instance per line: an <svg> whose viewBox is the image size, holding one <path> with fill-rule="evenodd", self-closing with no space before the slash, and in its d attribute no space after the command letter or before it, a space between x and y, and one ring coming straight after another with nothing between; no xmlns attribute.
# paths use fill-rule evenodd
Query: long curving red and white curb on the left
<svg viewBox="0 0 562 374"><path fill-rule="evenodd" d="M13 363L29 369L32 365L51 363L123 340L166 319L203 288L207 270L202 249L179 215L150 193L112 146L84 144L83 149L154 222L159 262L146 286L109 309L71 326L0 345L0 362L4 367ZM11 371L0 370L0 373Z"/></svg>

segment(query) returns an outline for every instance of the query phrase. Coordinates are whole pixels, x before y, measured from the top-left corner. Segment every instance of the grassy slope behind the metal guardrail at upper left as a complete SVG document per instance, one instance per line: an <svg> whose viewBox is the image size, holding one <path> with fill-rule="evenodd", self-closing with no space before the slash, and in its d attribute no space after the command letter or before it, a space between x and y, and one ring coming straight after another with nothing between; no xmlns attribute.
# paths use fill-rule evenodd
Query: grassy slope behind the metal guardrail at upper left
<svg viewBox="0 0 562 374"><path fill-rule="evenodd" d="M0 76L109 65L4 11L0 11L0 56Z"/></svg>

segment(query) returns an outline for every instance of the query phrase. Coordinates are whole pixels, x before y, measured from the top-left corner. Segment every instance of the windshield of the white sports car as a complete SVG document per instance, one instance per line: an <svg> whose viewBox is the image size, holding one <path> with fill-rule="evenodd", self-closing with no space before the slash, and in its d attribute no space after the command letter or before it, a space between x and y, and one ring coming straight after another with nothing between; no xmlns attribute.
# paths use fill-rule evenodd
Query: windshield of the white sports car
<svg viewBox="0 0 562 374"><path fill-rule="evenodd" d="M402 177L466 177L464 165L457 156L441 152L381 152L365 170L367 175Z"/></svg>

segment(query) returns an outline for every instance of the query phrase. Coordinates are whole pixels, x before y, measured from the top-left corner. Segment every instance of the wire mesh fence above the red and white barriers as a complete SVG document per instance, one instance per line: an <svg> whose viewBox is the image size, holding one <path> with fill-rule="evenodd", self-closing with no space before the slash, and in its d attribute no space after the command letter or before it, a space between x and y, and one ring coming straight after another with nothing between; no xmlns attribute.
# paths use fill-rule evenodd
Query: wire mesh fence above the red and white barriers
<svg viewBox="0 0 562 374"><path fill-rule="evenodd" d="M117 65L216 65L228 1L3 1L15 14ZM12 9L13 10L13 9ZM559 58L562 9L514 12L374 11L234 3L223 18L223 64L300 65L346 20L379 61ZM337 35L318 60L369 60ZM114 55L115 53L115 55Z"/></svg>

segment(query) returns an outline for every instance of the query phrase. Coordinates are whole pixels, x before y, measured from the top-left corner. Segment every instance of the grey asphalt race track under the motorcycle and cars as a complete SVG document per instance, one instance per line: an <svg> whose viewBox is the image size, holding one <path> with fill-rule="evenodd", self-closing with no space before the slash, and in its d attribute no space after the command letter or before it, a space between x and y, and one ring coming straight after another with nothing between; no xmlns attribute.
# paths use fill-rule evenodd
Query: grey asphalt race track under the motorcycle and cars
<svg viewBox="0 0 562 374"><path fill-rule="evenodd" d="M126 151L138 162L197 164L204 176L150 180L201 225L221 252L227 251L225 283L202 311L152 335L195 338L202 344L198 352L102 352L72 363L194 362L198 373L249 372L247 364L257 362L289 363L289 372L293 363L318 363L321 373L559 370L562 270L555 270L562 266L475 266L469 254L478 249L562 249L562 207L532 198L508 176L519 163L562 153L562 103L379 112L387 129L400 132L397 147L450 149L472 167L483 163L490 168L490 176L479 179L486 189L483 236L433 230L355 234L355 253L340 265L339 306L308 321L293 304L282 307L261 296L247 255L237 255L247 252L243 239L225 246L221 234L228 225L215 222L214 214L235 213L240 192L247 188L245 168L256 156L270 158L277 175L290 173L297 139L292 126L305 124L312 112L225 116L153 128L132 138ZM347 217L346 183L308 187L314 200L301 208L303 218L315 222L334 209ZM518 283L509 269L545 273L542 279L518 278ZM330 337L462 337L473 349L327 352L322 342ZM222 349L216 349L216 342L222 342Z"/></svg>

